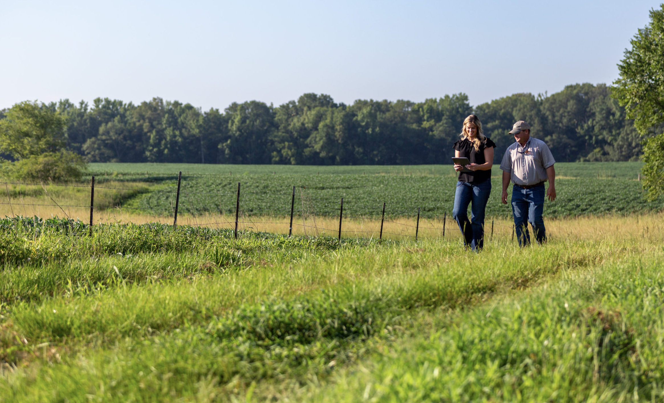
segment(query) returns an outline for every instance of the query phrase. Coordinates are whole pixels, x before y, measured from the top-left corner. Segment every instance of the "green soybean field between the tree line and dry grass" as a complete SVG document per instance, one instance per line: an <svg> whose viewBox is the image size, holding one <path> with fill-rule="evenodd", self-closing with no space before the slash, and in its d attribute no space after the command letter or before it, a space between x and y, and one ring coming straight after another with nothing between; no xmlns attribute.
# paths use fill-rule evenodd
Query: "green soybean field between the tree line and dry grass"
<svg viewBox="0 0 664 403"><path fill-rule="evenodd" d="M167 165L167 166L165 166ZM191 164L194 165L194 164ZM101 178L143 180L158 186L159 192L143 192L124 202L148 213L171 213L177 190L177 166L171 164L110 164L124 172L99 170ZM173 169L167 173L166 168ZM181 167L182 168L182 167ZM300 208L322 215L338 215L344 198L345 210L357 216L376 217L386 203L388 215L442 217L452 213L456 175L450 166L408 167L291 167L290 166L202 166L183 169L181 211L191 214L232 214L236 207L238 182L240 206L251 215L288 215L291 193ZM197 167L192 167L197 168ZM214 168L218 172L212 173ZM546 217L634 214L660 211L662 201L646 201L639 178L640 163L556 164L558 198L546 201ZM143 171L143 169L145 171ZM150 169L153 170L151 173ZM233 173L233 170L235 172ZM270 171L270 172L268 172ZM292 172L290 172L292 171ZM487 216L506 218L509 205L500 203L501 171L493 168L493 190ZM511 186L508 189L511 193Z"/></svg>

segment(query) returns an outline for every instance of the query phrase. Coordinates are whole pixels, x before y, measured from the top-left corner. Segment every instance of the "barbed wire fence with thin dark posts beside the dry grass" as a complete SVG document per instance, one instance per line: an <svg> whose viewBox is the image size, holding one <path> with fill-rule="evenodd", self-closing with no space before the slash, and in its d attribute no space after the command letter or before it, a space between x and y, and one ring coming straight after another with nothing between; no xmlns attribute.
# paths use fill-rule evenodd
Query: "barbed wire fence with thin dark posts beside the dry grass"
<svg viewBox="0 0 664 403"><path fill-rule="evenodd" d="M92 227L94 226L95 211L101 213L105 210L116 209L117 211L122 211L123 209L129 211L158 211L163 217L164 215L171 215L173 217L173 228L177 230L178 227L178 213L186 212L189 213L188 222L186 225L196 226L213 226L217 227L230 227L233 229L234 237L242 235L246 231L259 231L260 225L284 225L284 229L288 228L288 235L293 235L293 229L296 227L301 228L301 232L307 236L320 236L320 235L336 235L337 239L341 241L343 234L353 234L360 235L364 237L374 237L378 236L378 239L382 240L384 235L392 235L394 237L405 237L407 239L414 239L415 241L418 238L422 237L421 230L431 233L434 231L436 237L450 237L455 236L452 234L456 233L458 236L457 223L456 220L452 217L448 217L448 213L444 212L442 220L440 217L422 217L420 215L420 207L416 210L392 210L387 201L384 201L382 205L367 205L363 203L353 203L349 201L344 201L343 198L339 198L338 201L326 200L321 198L312 197L306 188L299 188L299 192L296 192L296 187L293 186L292 192L286 194L279 193L257 193L257 192L242 192L241 184L238 182L238 188L236 192L185 192L181 190L182 184L182 172L178 174L177 180L177 190L175 192L171 190L147 190L147 189L132 189L132 188L118 188L110 186L96 186L95 177L92 176L90 185L72 185L72 184L49 184L48 186L56 187L71 187L71 188L90 188L90 204L89 205L69 205L69 204L59 204L57 203L46 191L46 186L44 184L32 184L25 182L0 182L0 184L5 185L5 190L7 192L7 203L0 202L0 205L9 205L9 209L12 215L15 215L13 208L14 206L22 206L25 212L26 206L31 207L58 207L62 213L68 218L71 219L70 214L66 213L64 207L76 207L76 208L86 208L90 209L90 233L92 233ZM21 200L22 203L12 202L9 195L9 185L25 185L25 186L41 186L43 188L44 194L50 198L53 202L52 204L47 203L25 203L23 196ZM153 194L164 194L169 196L170 207L136 207L136 206L122 206L120 203L114 205L113 201L111 203L112 207L106 206L96 206L94 201L95 190L115 190L115 191L129 191L136 193L153 193ZM197 195L213 195L219 197L218 206L215 208L210 208L209 206L197 205L196 197ZM262 208L262 207L250 207L248 209L242 209L241 196L258 196L261 198L268 197L278 197L283 198L283 208ZM175 203L173 204L173 196L175 197ZM232 203L234 202L234 203ZM232 207L227 207L232 205ZM364 207L366 209L372 209L376 211L376 216L367 217L362 216L355 211L355 207ZM355 212L354 212L355 211ZM201 213L212 213L219 217L216 222L197 222L197 217L201 216ZM229 220L228 214L233 214L234 219ZM386 214L387 213L387 214ZM27 215L27 214L26 214ZM380 218L378 218L380 215ZM110 216L109 216L110 217ZM283 221L258 221L253 219L254 217L285 217ZM193 219L194 222L191 222ZM297 220L300 220L301 223L298 223ZM318 219L318 221L317 221ZM338 227L328 228L323 226L327 219L327 225L331 222L331 219L337 221ZM400 221L396 221L399 219ZM294 221L295 220L295 221ZM360 229L344 229L343 224L344 220L355 220L360 222ZM408 220L414 221L414 225L408 223ZM407 222L402 222L407 221ZM423 225L420 225L422 221ZM436 226L437 223L442 221L442 226ZM367 223L366 225L364 223ZM288 225L288 227L286 227ZM490 225L490 227L489 227ZM451 232L452 231L452 232ZM284 231L285 232L285 231ZM509 237L511 232L511 241L515 241L515 227L514 225L504 225L501 223L496 223L495 219L491 220L491 223L485 223L485 241L493 241L494 234L502 233ZM425 237L428 237L424 235Z"/></svg>

